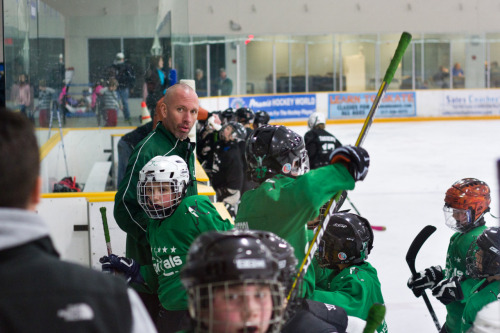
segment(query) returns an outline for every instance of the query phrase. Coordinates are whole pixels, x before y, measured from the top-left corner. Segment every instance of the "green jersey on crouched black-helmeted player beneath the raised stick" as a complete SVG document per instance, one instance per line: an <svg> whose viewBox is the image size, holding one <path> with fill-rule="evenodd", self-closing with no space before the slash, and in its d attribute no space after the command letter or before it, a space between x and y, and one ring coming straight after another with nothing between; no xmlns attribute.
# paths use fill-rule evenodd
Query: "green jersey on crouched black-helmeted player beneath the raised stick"
<svg viewBox="0 0 500 333"><path fill-rule="evenodd" d="M317 268L319 270L321 268ZM384 304L377 270L368 262L344 268L339 273L329 272L328 284L316 285L312 300L333 304L345 309L347 315L366 320L373 303ZM323 289L324 288L324 289ZM377 332L387 332L385 320Z"/></svg>

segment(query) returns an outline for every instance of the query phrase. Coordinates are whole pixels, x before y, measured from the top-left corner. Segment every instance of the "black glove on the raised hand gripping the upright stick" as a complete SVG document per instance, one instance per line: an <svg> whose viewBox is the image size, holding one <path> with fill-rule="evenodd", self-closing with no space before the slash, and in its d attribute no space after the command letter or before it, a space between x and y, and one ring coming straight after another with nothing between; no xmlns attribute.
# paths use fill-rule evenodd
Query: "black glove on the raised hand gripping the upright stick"
<svg viewBox="0 0 500 333"><path fill-rule="evenodd" d="M330 164L343 163L355 181L363 180L368 173L370 156L368 152L355 146L342 146L330 155Z"/></svg>

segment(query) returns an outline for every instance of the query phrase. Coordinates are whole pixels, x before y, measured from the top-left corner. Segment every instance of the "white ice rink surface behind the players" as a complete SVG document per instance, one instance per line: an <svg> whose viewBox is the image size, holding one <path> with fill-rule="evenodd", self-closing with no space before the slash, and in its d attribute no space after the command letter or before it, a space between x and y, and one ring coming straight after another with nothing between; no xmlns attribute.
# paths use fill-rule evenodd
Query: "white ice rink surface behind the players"
<svg viewBox="0 0 500 333"><path fill-rule="evenodd" d="M361 127L361 123L334 124L326 129L342 144L353 145ZM306 126L290 128L301 135L307 131ZM434 225L437 230L420 250L416 269L444 267L453 234L444 224L444 195L459 179L488 183L491 212L499 215L500 120L374 122L363 147L370 154L370 169L349 198L372 225L387 227L374 231L368 261L378 270L389 332L437 332L423 299L415 298L406 286L411 274L406 252L424 226ZM343 208L350 208L349 202ZM499 222L489 214L486 221L489 226ZM442 325L446 308L427 294Z"/></svg>

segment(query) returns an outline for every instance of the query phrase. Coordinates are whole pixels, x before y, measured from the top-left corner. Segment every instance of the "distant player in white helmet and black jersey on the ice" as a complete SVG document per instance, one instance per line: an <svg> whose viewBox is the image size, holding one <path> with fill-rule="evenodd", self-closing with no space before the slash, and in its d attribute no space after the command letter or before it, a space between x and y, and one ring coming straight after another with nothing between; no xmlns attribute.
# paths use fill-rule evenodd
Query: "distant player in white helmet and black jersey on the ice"
<svg viewBox="0 0 500 333"><path fill-rule="evenodd" d="M325 116L319 112L313 112L307 121L309 131L304 135L304 141L311 169L328 165L332 151L342 146L333 134L325 130L325 125Z"/></svg>

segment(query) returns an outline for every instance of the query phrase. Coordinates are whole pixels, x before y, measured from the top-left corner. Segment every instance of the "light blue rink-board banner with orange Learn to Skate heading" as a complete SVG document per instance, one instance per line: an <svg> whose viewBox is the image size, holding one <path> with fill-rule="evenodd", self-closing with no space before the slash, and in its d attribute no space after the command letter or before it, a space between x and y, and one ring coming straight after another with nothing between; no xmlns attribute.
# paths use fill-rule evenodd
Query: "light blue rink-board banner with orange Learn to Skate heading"
<svg viewBox="0 0 500 333"><path fill-rule="evenodd" d="M328 118L365 118L376 93L340 93L328 95ZM387 92L378 105L375 117L414 117L415 92Z"/></svg>

